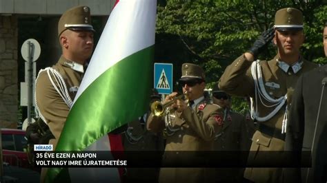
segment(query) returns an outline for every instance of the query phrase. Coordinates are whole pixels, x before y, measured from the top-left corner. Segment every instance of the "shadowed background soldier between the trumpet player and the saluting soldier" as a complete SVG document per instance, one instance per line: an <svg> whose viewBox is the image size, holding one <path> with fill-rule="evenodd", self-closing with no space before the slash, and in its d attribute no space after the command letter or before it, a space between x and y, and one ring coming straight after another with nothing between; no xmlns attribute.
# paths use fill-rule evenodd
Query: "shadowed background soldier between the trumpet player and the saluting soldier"
<svg viewBox="0 0 327 183"><path fill-rule="evenodd" d="M224 125L221 133L215 138L215 151L228 151L236 155L238 151L246 153L250 149L250 138L243 115L230 110L230 95L218 89L217 85L212 90L212 101L224 109ZM219 152L218 152L219 154ZM226 155L226 154L224 154ZM244 169L228 168L216 169L217 182L242 182Z"/></svg>

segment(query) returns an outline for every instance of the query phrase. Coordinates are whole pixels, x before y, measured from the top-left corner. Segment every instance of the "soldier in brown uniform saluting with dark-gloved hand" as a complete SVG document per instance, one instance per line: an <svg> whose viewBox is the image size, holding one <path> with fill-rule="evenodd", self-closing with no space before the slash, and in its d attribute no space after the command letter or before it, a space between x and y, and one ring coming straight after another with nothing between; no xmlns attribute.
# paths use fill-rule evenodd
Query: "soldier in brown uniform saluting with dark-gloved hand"
<svg viewBox="0 0 327 183"><path fill-rule="evenodd" d="M275 35L275 36L274 36ZM270 61L255 61L273 39L277 55ZM287 113L297 79L316 67L299 48L304 43L303 16L295 8L275 14L275 26L264 32L248 52L230 64L219 80L228 94L251 97L251 116L259 122L252 137L250 164L275 162L267 151L284 151ZM266 152L266 153L265 153ZM266 157L264 161L259 157ZM282 161L281 161L282 162ZM280 168L247 168L244 177L253 182L281 182Z"/></svg>

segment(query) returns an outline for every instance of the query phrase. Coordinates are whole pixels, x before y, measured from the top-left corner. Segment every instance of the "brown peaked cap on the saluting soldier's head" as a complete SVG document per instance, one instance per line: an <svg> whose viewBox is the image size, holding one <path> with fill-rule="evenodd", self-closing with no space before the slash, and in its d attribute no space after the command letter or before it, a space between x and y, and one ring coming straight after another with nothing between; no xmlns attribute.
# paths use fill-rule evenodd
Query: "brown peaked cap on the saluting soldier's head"
<svg viewBox="0 0 327 183"><path fill-rule="evenodd" d="M275 29L279 31L302 30L303 15L296 8L283 8L275 14Z"/></svg>

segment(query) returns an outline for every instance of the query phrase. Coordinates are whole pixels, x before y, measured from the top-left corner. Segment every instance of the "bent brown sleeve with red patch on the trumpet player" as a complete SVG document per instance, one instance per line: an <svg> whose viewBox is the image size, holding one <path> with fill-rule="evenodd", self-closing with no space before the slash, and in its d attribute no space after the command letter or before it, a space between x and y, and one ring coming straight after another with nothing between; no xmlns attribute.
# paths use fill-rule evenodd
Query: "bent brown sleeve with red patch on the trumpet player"
<svg viewBox="0 0 327 183"><path fill-rule="evenodd" d="M213 105L206 106L198 114L190 107L187 107L181 115L184 116L187 124L205 141L215 139L215 135L221 131L224 119L223 109Z"/></svg>

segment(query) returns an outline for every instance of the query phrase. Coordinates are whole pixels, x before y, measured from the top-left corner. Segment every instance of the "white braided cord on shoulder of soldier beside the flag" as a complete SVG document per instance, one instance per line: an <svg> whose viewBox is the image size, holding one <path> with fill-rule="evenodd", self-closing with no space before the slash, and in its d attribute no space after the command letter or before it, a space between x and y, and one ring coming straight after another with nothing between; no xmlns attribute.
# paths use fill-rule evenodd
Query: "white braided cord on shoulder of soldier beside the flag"
<svg viewBox="0 0 327 183"><path fill-rule="evenodd" d="M46 71L48 74L48 78L50 79L50 82L52 84L52 86L54 87L54 89L56 89L57 93L61 96L61 98L63 99L63 102L66 103L66 105L69 107L69 109L72 107L72 99L70 98L69 94L68 94L68 89L65 83L65 80L63 80L63 77L61 76L61 74L59 72L57 72L56 69L52 69L51 67L46 67L45 69L41 69L39 71L39 74L43 71ZM39 78L39 74L37 75L37 78ZM54 80L52 80L52 76L54 78ZM57 85L58 87L57 87ZM35 85L37 85L37 79L35 80ZM37 105L37 91L35 89L34 92L34 102L35 102L35 107L37 108L37 111L39 112L39 116L40 118L46 122L46 124L48 124L48 122L46 121L46 118L44 118L44 116L41 114L41 111L39 110L39 106Z"/></svg>

